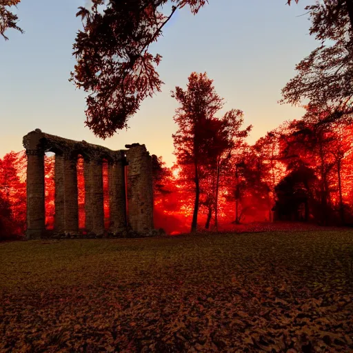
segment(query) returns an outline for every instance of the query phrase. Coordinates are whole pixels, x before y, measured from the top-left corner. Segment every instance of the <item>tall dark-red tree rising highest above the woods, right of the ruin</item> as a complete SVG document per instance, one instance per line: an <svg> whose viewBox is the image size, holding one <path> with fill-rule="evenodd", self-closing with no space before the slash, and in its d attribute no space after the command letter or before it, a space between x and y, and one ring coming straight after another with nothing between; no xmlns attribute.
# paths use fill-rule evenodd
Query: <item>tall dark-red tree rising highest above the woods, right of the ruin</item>
<svg viewBox="0 0 353 353"><path fill-rule="evenodd" d="M230 110L221 119L215 114L223 107L223 99L214 90L206 73L192 72L187 89L172 92L180 107L174 121L178 125L174 139L179 181L188 190L188 199L194 201L191 231L196 231L199 210L206 214L205 228L210 228L212 213L218 223L220 181L229 171L232 151L236 150L251 126L240 130L243 123L241 110ZM194 194L193 194L194 193Z"/></svg>

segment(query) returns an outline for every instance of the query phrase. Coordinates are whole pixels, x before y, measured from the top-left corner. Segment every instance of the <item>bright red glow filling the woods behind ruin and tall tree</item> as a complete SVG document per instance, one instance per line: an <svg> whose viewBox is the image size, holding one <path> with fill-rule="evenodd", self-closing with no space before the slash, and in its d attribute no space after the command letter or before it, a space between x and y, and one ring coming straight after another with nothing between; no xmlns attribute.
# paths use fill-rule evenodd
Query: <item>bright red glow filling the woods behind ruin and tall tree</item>
<svg viewBox="0 0 353 353"><path fill-rule="evenodd" d="M304 137L292 134L299 123L305 123L305 131L310 134ZM246 143L238 146L220 174L217 202L214 200L216 174L213 166L201 165L198 230L270 229L272 221L353 223L353 128L339 123L321 130L315 130L316 126L308 120L293 121L268 133L252 146ZM311 141L313 136L315 139ZM195 197L192 168L178 164L167 168L157 157L152 159L152 165L154 228L163 228L170 235L190 232ZM79 156L77 188L81 231L85 229L84 168L85 162ZM102 170L104 223L108 230L106 161ZM0 172L0 222L7 234L23 234L26 230L26 154L6 154L0 159ZM52 154L45 157L45 196L46 229L52 230L55 211Z"/></svg>

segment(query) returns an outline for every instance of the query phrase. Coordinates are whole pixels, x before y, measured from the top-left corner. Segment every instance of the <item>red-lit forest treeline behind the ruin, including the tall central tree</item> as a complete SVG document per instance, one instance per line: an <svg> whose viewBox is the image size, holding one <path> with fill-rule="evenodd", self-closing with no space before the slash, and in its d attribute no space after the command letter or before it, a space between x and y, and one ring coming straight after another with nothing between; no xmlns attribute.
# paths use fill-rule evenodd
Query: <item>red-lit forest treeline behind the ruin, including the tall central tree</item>
<svg viewBox="0 0 353 353"><path fill-rule="evenodd" d="M353 223L352 121L306 106L256 143L246 140L243 112L223 108L213 81L193 72L172 92L179 108L172 135L176 163L152 156L155 228L168 234L226 230L234 224L308 221ZM79 228L84 230L83 159L77 161ZM54 155L45 157L46 227L54 225ZM109 227L108 168L103 165L105 228ZM0 159L1 239L26 230L26 153Z"/></svg>

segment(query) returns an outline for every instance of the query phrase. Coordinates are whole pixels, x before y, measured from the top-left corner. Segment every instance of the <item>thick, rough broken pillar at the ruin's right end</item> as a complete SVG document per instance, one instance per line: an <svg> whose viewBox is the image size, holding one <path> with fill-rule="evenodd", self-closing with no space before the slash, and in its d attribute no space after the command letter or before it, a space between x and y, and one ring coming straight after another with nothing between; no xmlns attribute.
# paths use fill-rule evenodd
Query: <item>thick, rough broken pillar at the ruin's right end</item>
<svg viewBox="0 0 353 353"><path fill-rule="evenodd" d="M153 225L152 161L145 145L127 150L128 223L135 232L145 233Z"/></svg>

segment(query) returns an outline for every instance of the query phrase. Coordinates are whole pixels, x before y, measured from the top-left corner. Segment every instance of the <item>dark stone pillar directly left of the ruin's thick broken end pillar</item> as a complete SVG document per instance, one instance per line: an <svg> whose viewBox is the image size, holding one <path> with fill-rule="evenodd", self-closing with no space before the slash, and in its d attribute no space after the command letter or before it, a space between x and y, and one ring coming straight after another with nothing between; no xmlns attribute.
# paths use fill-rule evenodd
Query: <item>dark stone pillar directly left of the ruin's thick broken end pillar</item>
<svg viewBox="0 0 353 353"><path fill-rule="evenodd" d="M108 164L110 232L126 228L125 157Z"/></svg>

